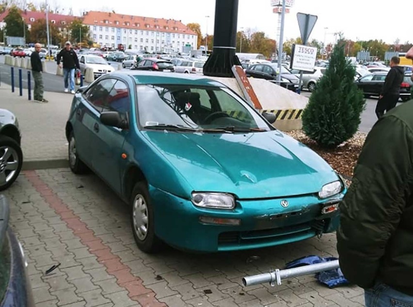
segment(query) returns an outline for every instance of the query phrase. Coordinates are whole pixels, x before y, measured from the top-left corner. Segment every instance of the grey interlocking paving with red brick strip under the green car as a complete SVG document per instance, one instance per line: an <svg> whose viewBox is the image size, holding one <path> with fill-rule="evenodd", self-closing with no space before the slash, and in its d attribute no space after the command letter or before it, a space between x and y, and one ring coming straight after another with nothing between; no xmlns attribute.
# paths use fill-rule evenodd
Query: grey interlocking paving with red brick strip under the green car
<svg viewBox="0 0 413 307"><path fill-rule="evenodd" d="M134 242L127 205L93 174L25 171L4 194L28 258L36 307L364 306L362 289L328 289L313 275L276 287L242 286L243 276L296 258L337 256L334 234L241 252L200 255L167 247L148 255Z"/></svg>

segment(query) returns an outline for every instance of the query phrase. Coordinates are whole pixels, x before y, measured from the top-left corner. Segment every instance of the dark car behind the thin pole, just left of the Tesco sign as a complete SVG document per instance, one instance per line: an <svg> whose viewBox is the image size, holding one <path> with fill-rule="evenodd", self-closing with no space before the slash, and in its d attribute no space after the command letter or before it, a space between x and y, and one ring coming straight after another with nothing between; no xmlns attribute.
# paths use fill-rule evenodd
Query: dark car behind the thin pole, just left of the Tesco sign
<svg viewBox="0 0 413 307"><path fill-rule="evenodd" d="M278 65L276 63L261 63L250 65L245 69L247 77L265 79L268 81L277 81ZM293 75L286 67L281 66L281 86L288 90L296 92L300 79Z"/></svg>

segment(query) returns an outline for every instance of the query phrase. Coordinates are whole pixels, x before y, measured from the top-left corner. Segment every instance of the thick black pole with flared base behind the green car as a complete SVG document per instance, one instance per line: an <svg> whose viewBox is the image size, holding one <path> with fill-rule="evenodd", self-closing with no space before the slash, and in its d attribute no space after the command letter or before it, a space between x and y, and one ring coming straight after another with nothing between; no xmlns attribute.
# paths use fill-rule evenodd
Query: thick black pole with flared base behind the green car
<svg viewBox="0 0 413 307"><path fill-rule="evenodd" d="M238 0L215 0L214 48L204 65L204 75L234 77L232 66L241 65L235 55Z"/></svg>

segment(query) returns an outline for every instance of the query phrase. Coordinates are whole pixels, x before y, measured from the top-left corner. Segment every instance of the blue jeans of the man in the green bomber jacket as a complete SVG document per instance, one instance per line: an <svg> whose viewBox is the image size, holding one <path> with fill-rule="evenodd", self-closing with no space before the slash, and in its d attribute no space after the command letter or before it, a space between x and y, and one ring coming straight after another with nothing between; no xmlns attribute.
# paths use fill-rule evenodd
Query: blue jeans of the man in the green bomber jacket
<svg viewBox="0 0 413 307"><path fill-rule="evenodd" d="M413 307L413 296L396 291L383 283L365 289L366 307Z"/></svg>

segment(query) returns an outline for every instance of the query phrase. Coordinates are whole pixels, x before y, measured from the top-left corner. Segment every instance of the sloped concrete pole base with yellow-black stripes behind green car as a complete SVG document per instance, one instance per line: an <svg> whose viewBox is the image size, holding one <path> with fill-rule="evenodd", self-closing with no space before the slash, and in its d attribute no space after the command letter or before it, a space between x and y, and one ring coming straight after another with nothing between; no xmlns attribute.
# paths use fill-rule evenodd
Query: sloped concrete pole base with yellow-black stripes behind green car
<svg viewBox="0 0 413 307"><path fill-rule="evenodd" d="M235 78L207 77L219 81L239 96L244 97L241 88ZM287 90L280 85L263 79L248 78L254 89L262 109L260 113L270 112L276 115L273 126L282 131L302 129L302 110L308 103L308 98L293 91Z"/></svg>

